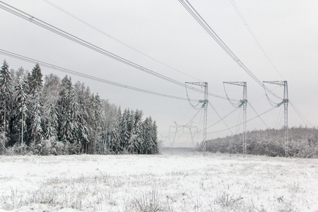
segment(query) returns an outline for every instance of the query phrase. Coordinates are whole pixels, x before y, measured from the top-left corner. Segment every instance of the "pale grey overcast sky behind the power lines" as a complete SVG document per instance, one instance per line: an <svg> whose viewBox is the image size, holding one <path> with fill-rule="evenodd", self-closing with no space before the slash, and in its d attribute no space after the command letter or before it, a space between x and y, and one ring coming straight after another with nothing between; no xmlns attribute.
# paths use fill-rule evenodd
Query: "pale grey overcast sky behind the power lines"
<svg viewBox="0 0 318 212"><path fill-rule="evenodd" d="M209 93L224 97L223 81L245 81L248 100L252 107L259 114L271 109L264 88L218 46L177 0L49 1L143 54L98 33L45 1L4 0L6 4L151 71L179 82L206 81ZM266 59L230 0L189 2L259 80L288 81L290 102L309 122L303 122L290 106L288 126L318 125L318 1L234 0L277 70ZM187 98L184 87L110 59L3 9L0 9L0 20L0 49L127 86ZM24 69L31 71L35 66L2 54L0 59L1 63L6 59L11 69L23 66ZM42 67L42 73L44 75L55 73L61 78L65 76L65 73L45 67ZM169 146L170 143L165 137L169 135L172 141L174 136L169 134L170 126L174 125L174 122L180 125L188 124L198 112L192 109L186 100L164 98L86 78L71 77L73 83L76 81L85 83L92 92L99 93L101 98L110 100L115 105L143 110L145 117L151 115L158 124L159 138L165 140L165 146ZM230 98L242 98L241 87L227 85L225 88ZM269 86L269 88L283 98L282 87ZM204 98L202 94L196 92L189 92L189 97ZM276 98L270 97L275 102L279 102ZM211 96L208 98L220 117L225 117L235 109L228 100ZM193 103L196 105L196 102ZM218 114L208 105L208 126L218 122L220 119ZM199 112L193 119L192 125L198 126L199 130L202 129L202 115ZM255 116L255 112L248 106L247 119ZM247 129L266 129L266 126L281 128L283 107L275 108L261 118L266 125L257 118L247 122ZM236 110L225 118L224 122L229 127L240 124L242 110ZM209 127L207 139L230 135L229 130L222 131L227 129L225 124L220 122ZM216 133L216 131L222 132ZM242 132L242 126L234 127L231 131L233 134ZM202 136L196 136L195 142L201 139ZM187 129L184 129L184 134L177 134L176 140L174 146L192 146Z"/></svg>

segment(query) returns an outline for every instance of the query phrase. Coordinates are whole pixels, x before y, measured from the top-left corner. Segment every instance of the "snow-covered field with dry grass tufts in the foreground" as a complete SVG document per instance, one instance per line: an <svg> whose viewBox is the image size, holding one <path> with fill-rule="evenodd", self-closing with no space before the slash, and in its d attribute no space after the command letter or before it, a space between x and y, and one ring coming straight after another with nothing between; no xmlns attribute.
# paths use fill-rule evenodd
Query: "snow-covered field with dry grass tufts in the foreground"
<svg viewBox="0 0 318 212"><path fill-rule="evenodd" d="M318 160L0 156L0 211L318 211Z"/></svg>

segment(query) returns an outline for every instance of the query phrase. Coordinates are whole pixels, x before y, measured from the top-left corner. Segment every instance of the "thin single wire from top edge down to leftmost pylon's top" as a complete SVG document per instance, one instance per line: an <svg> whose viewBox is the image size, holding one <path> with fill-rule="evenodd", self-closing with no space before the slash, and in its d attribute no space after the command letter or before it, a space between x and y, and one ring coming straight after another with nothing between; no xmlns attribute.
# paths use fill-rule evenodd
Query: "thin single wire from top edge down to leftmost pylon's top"
<svg viewBox="0 0 318 212"><path fill-rule="evenodd" d="M149 59L152 59L153 61L156 61L156 62L158 62L159 64L162 64L163 66L168 67L169 69L172 69L172 70L174 70L174 71L177 71L177 72L179 72L179 73L182 73L182 74L184 74L185 76L189 76L189 77L191 77L191 78L194 78L194 79L196 79L196 80L199 80L198 78L195 78L194 76L191 76L191 75L189 75L189 74L187 74L187 73L184 73L184 72L182 72L182 71L179 71L178 69L175 69L175 68L173 68L172 66L169 66L169 65L163 63L162 61L159 61L158 59L155 59L155 58L149 56L148 54L145 54L145 53L141 52L139 49L136 49L136 48L134 48L134 47L131 47L130 45L127 45L126 43L122 42L121 40L117 39L116 37L113 37L112 35L109 35L109 34L105 33L104 31L100 30L99 28L96 28L94 25L91 25L90 23L87 23L85 20L83 20L83 19L81 19L81 18L78 18L77 16L74 16L72 13L70 13L70 12L64 10L63 8L57 6L56 4L53 4L51 1L48 1L48 0L43 0L43 1L45 1L47 4L50 4L51 6L54 6L54 7L57 8L59 11L61 11L61 12L63 12L63 13L66 13L68 16L71 16L72 18L75 18L76 20L78 20L78 21L80 21L81 23L87 25L88 27L92 28L93 30L96 30L96 31L98 31L99 33L102 33L102 35L105 35L105 36L107 36L107 37L110 37L110 39L112 39L112 40L118 42L119 44L124 45L125 47L128 47L129 49L132 49L132 50L134 50L135 52L138 52L139 54L142 54L143 56L148 57ZM199 81L201 81L201 80L199 80Z"/></svg>

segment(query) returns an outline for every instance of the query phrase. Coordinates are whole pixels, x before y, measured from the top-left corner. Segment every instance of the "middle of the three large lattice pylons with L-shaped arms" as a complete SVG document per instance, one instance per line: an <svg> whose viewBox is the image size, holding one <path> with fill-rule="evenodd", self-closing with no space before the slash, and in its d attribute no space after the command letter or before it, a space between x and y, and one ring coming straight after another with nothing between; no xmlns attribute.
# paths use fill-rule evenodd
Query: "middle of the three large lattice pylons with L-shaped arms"
<svg viewBox="0 0 318 212"><path fill-rule="evenodd" d="M225 84L235 85L235 86L242 86L243 87L243 98L240 100L238 105L233 104L230 101L231 105L235 107L242 107L243 106L243 155L246 154L246 119L247 119L247 83L246 82L223 82ZM225 90L226 93L226 90ZM228 97L228 94L226 94Z"/></svg>

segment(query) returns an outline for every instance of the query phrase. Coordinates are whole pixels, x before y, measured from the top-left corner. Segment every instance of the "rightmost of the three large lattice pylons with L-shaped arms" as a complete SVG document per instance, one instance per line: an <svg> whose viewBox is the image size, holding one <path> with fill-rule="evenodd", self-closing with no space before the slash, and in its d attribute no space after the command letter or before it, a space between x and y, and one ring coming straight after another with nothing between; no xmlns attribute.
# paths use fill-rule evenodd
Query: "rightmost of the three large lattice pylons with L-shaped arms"
<svg viewBox="0 0 318 212"><path fill-rule="evenodd" d="M288 157L288 87L287 81L264 81L263 83L271 83L279 86L284 86L284 98L283 101L273 105L275 107L280 107L284 104L284 150L285 156ZM267 94L266 94L267 96ZM269 100L268 96L267 99Z"/></svg>

